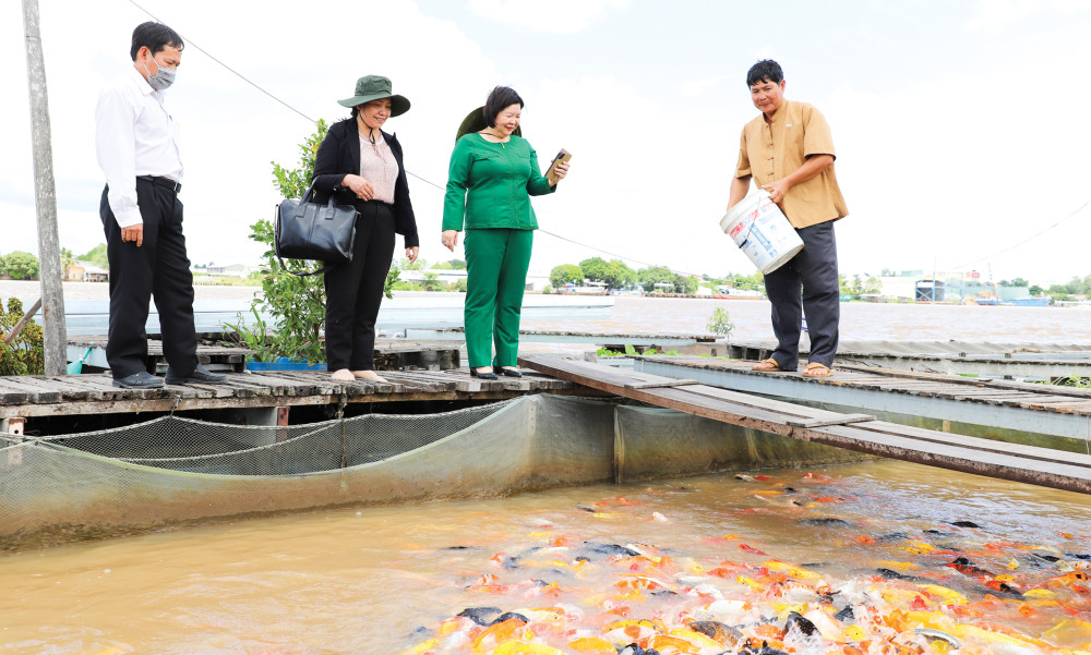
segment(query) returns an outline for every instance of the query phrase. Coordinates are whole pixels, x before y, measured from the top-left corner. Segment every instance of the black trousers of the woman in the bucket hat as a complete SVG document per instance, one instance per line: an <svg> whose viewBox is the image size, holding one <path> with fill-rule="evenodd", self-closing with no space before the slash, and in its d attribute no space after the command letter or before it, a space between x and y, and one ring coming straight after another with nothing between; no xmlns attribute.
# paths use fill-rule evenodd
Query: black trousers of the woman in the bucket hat
<svg viewBox="0 0 1091 655"><path fill-rule="evenodd" d="M326 271L326 368L371 371L375 319L394 258L394 211L363 204L356 223L352 260Z"/></svg>

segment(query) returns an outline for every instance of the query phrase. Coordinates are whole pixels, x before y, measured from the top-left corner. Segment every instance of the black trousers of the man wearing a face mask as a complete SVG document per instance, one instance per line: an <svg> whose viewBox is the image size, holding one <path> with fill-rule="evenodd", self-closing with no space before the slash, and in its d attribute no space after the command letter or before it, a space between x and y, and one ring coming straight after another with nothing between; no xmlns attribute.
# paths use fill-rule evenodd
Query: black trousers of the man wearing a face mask
<svg viewBox="0 0 1091 655"><path fill-rule="evenodd" d="M197 336L193 327L193 274L182 235L182 203L166 186L136 180L136 202L144 219L144 241L121 241L118 226L103 190L98 214L106 232L110 262L110 336L106 361L115 378L141 371L155 373L147 356L148 302L154 296L163 332L163 354L173 372L193 373L197 365Z"/></svg>

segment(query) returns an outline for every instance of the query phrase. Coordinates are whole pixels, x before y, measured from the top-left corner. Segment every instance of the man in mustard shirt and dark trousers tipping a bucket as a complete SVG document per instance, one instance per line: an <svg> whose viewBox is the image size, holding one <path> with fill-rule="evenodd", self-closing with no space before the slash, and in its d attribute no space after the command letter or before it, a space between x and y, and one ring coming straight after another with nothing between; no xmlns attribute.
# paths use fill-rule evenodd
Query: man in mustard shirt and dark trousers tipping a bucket
<svg viewBox="0 0 1091 655"><path fill-rule="evenodd" d="M796 369L806 314L811 354L803 375L827 377L841 315L834 221L849 214L834 174L834 140L817 109L784 98L784 72L776 61L754 64L746 85L762 114L743 128L728 209L746 196L753 178L803 240L798 255L765 276L777 350L754 369Z"/></svg>

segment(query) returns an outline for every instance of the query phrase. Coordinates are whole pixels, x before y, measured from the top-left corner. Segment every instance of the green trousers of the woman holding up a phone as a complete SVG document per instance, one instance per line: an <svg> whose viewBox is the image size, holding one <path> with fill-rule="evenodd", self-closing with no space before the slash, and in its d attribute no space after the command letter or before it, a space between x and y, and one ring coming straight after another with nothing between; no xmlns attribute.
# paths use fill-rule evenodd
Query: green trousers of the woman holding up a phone
<svg viewBox="0 0 1091 655"><path fill-rule="evenodd" d="M515 366L533 230L466 230L466 354L470 367ZM496 357L492 344L496 343Z"/></svg>

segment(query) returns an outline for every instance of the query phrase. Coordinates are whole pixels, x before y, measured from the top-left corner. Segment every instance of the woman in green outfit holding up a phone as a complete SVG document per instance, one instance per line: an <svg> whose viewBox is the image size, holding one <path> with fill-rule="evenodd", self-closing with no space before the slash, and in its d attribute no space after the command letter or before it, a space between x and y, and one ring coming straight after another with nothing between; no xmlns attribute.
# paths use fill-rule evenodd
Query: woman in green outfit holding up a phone
<svg viewBox="0 0 1091 655"><path fill-rule="evenodd" d="M443 245L454 251L466 230L466 350L470 375L520 377L519 312L530 267L533 230L530 196L553 193L538 155L519 136L523 98L497 86L484 107L463 121L451 154L443 203ZM568 171L559 163L556 179ZM496 356L492 356L492 341Z"/></svg>

